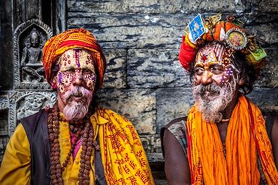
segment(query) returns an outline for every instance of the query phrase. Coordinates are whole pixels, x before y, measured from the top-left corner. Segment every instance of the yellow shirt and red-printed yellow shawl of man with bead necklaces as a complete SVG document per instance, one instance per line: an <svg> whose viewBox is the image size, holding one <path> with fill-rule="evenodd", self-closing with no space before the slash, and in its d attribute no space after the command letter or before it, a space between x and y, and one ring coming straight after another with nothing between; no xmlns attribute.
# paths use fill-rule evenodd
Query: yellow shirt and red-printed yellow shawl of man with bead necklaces
<svg viewBox="0 0 278 185"><path fill-rule="evenodd" d="M96 133L95 139L99 136L107 184L154 184L145 151L131 122L110 109L101 108L90 117L90 121ZM60 161L65 161L71 147L70 127L63 121L60 121L59 127ZM78 184L81 148L74 160L70 158L63 171L64 184ZM90 184L95 184L94 159L95 155L92 155ZM0 168L0 184L31 184L30 146L22 124L17 126L6 146Z"/></svg>

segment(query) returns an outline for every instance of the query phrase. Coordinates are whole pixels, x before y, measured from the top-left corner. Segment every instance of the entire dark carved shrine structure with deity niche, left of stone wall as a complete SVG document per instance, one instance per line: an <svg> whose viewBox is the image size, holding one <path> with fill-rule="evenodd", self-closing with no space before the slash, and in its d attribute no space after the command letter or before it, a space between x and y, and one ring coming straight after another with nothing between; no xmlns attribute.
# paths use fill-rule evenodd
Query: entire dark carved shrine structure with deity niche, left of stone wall
<svg viewBox="0 0 278 185"><path fill-rule="evenodd" d="M0 3L0 163L17 120L56 101L56 93L44 79L42 48L52 35L65 30L66 3Z"/></svg>

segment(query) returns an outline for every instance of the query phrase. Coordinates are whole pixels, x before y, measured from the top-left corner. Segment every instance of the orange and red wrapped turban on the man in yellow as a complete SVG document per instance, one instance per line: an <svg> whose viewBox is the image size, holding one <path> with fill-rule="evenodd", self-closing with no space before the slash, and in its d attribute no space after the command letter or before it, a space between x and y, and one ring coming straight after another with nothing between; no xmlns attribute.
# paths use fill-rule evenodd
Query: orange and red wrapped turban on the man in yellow
<svg viewBox="0 0 278 185"><path fill-rule="evenodd" d="M57 58L65 51L74 48L88 49L95 58L98 89L104 81L106 69L106 59L97 43L94 35L83 28L66 30L54 37L51 37L44 45L42 51L42 64L44 65L45 78L50 84L51 68L54 66Z"/></svg>

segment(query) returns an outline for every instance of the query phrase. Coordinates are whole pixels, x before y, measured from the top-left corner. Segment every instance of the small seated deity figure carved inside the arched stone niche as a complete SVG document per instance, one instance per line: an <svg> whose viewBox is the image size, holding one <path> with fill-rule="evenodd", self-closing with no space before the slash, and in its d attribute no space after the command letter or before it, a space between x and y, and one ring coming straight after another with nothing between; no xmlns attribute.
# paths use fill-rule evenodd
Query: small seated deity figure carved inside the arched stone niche
<svg viewBox="0 0 278 185"><path fill-rule="evenodd" d="M44 69L40 62L42 58L42 41L36 28L31 30L22 52L22 80L42 82Z"/></svg>

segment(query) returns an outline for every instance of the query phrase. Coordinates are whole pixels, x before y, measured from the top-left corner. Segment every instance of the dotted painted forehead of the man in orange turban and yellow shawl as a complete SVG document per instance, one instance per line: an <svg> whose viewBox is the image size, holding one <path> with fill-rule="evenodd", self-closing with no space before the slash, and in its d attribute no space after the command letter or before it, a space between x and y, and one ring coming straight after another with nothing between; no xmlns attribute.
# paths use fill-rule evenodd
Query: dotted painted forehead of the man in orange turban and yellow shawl
<svg viewBox="0 0 278 185"><path fill-rule="evenodd" d="M94 62L95 60L90 51L84 49L69 49L58 60L61 70L74 68L95 71Z"/></svg>

